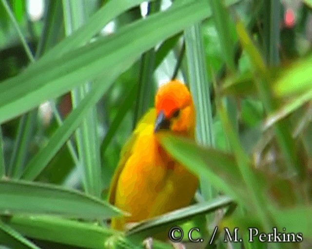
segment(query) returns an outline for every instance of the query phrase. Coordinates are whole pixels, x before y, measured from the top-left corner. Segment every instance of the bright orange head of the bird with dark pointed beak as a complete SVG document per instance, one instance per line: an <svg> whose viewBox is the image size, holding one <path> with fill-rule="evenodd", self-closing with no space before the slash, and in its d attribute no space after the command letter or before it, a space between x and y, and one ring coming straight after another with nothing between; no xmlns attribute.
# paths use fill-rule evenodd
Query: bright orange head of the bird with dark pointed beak
<svg viewBox="0 0 312 249"><path fill-rule="evenodd" d="M190 91L178 80L162 85L156 94L157 118L154 131L194 133L195 108Z"/></svg>

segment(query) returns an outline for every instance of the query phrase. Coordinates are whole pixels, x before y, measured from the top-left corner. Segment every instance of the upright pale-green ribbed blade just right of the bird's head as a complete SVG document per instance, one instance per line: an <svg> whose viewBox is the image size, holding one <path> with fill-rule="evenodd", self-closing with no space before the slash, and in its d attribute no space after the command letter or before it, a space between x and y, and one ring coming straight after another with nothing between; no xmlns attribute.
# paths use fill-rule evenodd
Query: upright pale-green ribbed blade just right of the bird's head
<svg viewBox="0 0 312 249"><path fill-rule="evenodd" d="M215 146L212 104L209 94L207 66L204 58L203 35L199 24L184 30L189 84L196 109L196 140L207 146ZM200 191L205 200L217 196L215 189L200 178Z"/></svg>

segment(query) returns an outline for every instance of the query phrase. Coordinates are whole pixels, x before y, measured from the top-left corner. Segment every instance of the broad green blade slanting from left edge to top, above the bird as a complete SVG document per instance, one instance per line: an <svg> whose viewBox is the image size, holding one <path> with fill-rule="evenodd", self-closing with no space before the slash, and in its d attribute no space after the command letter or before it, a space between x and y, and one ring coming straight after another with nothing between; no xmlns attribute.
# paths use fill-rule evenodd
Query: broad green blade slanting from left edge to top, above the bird
<svg viewBox="0 0 312 249"><path fill-rule="evenodd" d="M99 38L59 58L42 63L39 59L37 66L34 63L20 75L2 82L0 122L55 98L86 80L108 73L125 58L137 57L159 40L207 17L208 4L204 0L189 2L138 20L115 34Z"/></svg>

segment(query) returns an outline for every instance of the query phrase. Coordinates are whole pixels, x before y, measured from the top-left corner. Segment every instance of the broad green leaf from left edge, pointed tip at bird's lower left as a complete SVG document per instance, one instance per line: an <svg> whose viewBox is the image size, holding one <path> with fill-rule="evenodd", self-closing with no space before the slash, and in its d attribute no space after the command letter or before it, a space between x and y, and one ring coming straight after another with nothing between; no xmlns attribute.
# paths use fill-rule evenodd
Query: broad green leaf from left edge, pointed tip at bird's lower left
<svg viewBox="0 0 312 249"><path fill-rule="evenodd" d="M0 213L54 214L77 218L108 218L120 213L106 201L61 187L0 180Z"/></svg>

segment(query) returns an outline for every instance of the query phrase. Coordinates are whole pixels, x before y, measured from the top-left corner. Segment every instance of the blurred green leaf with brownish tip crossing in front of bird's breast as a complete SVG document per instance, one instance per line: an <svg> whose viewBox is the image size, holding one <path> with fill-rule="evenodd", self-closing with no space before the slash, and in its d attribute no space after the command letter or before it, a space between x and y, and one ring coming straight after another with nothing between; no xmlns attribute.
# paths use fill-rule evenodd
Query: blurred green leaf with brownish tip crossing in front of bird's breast
<svg viewBox="0 0 312 249"><path fill-rule="evenodd" d="M197 176L248 206L249 196L246 196L245 184L233 155L166 133L157 134L157 139L170 155Z"/></svg>

